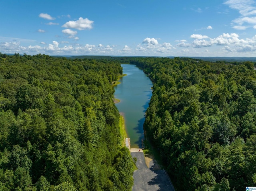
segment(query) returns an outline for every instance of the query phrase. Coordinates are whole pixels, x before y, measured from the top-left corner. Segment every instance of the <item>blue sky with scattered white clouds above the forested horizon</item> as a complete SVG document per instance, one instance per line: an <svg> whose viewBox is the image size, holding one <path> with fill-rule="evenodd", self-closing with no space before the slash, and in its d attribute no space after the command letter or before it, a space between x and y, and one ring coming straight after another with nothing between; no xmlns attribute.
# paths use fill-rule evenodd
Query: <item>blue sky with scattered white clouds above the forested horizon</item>
<svg viewBox="0 0 256 191"><path fill-rule="evenodd" d="M0 52L256 57L256 0L0 0Z"/></svg>

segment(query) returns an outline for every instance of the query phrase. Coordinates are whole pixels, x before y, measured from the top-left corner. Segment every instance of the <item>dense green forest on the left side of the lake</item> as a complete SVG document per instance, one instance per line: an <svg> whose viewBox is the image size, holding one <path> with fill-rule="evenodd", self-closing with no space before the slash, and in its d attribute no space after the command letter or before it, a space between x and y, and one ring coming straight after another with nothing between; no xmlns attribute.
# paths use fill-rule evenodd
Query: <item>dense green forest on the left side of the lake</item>
<svg viewBox="0 0 256 191"><path fill-rule="evenodd" d="M119 61L0 53L0 190L131 190Z"/></svg>

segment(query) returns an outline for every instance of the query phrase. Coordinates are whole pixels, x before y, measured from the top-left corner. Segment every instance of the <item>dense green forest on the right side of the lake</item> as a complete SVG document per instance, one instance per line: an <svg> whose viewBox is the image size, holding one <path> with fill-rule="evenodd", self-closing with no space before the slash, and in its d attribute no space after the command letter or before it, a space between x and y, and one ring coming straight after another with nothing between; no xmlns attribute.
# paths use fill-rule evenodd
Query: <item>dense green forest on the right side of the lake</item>
<svg viewBox="0 0 256 191"><path fill-rule="evenodd" d="M153 93L144 131L176 191L256 185L256 72L250 61L132 58Z"/></svg>

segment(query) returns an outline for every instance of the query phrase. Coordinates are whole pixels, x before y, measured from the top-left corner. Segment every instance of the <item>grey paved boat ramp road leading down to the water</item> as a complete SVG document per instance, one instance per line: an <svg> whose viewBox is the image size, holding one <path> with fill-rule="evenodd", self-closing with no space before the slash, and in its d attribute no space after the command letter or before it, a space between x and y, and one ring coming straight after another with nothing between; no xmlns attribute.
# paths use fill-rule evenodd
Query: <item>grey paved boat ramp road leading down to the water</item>
<svg viewBox="0 0 256 191"><path fill-rule="evenodd" d="M132 191L174 191L164 170L154 170L154 161L148 168L143 150L131 149L132 158L136 157L138 170L134 171L134 185Z"/></svg>

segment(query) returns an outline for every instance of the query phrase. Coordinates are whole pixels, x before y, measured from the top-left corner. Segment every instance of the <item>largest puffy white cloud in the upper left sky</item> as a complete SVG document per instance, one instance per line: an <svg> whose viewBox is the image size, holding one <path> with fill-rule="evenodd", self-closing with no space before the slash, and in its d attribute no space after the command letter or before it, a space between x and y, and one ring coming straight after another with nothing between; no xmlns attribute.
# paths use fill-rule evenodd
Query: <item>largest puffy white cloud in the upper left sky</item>
<svg viewBox="0 0 256 191"><path fill-rule="evenodd" d="M88 20L88 18L83 19L82 17L80 17L79 20L66 22L64 25L62 25L62 27L74 28L77 30L90 30L92 29L93 23L94 21L90 21Z"/></svg>

